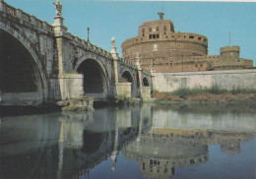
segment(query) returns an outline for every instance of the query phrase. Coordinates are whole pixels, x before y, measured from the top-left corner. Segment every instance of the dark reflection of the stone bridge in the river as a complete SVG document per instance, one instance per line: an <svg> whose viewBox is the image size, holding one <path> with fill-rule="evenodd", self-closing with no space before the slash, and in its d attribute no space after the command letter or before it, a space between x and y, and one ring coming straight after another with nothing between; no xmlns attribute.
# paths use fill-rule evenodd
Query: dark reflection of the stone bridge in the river
<svg viewBox="0 0 256 179"><path fill-rule="evenodd" d="M6 117L0 126L0 163L5 163L0 176L75 178L109 157L114 169L119 150L136 139L141 119L150 118L148 112L104 108L96 112ZM149 128L151 120L145 122L144 129ZM9 133L12 129L15 132ZM24 164L28 158L23 157L32 158ZM22 169L14 172L19 165Z"/></svg>

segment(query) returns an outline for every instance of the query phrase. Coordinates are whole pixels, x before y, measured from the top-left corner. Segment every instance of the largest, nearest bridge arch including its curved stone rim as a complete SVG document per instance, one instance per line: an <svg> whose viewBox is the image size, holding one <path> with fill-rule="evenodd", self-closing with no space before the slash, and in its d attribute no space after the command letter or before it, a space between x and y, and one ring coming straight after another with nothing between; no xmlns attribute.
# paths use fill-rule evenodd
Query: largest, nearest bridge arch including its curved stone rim
<svg viewBox="0 0 256 179"><path fill-rule="evenodd" d="M47 100L45 68L19 27L0 23L1 105L38 105Z"/></svg>

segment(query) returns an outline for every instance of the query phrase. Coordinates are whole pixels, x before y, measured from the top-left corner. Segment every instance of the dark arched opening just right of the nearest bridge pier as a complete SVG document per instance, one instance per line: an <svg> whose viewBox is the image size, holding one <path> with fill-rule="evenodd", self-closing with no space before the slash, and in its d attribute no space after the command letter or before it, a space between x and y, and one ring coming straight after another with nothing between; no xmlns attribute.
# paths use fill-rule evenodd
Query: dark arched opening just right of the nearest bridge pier
<svg viewBox="0 0 256 179"><path fill-rule="evenodd" d="M85 60L77 71L84 75L84 91L86 94L94 97L104 97L107 94L106 80L96 60Z"/></svg>

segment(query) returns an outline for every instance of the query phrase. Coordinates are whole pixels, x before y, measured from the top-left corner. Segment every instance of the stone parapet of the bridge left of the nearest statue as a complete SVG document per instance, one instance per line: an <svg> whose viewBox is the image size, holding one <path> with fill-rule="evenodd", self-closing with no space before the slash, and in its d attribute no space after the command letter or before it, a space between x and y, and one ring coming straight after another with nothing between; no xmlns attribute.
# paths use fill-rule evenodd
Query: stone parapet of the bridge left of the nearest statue
<svg viewBox="0 0 256 179"><path fill-rule="evenodd" d="M0 11L4 11L11 16L20 18L25 22L32 23L33 25L35 25L38 28L53 31L53 27L51 25L47 24L44 21L40 21L37 18L35 18L34 16L32 16L28 13L25 13L22 10L17 9L13 6L10 6L9 4L7 4L5 2L0 2Z"/></svg>

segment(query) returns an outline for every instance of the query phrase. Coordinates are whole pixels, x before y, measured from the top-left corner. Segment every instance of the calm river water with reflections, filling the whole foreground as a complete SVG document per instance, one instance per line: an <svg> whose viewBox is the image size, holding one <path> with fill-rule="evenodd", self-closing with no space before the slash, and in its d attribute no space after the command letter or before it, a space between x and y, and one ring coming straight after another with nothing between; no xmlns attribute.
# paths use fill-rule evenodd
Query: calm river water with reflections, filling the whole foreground
<svg viewBox="0 0 256 179"><path fill-rule="evenodd" d="M143 105L0 117L1 179L254 179L256 110Z"/></svg>

